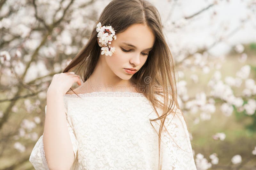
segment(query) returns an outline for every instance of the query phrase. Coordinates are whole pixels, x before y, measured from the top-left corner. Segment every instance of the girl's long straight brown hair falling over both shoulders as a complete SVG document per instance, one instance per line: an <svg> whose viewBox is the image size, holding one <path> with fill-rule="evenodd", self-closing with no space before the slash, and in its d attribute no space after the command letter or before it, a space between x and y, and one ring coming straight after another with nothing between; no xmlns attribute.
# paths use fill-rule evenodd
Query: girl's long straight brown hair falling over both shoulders
<svg viewBox="0 0 256 170"><path fill-rule="evenodd" d="M138 91L143 91L156 111L158 118L149 119L150 123L157 120L161 121L158 133L158 168L160 168L161 132L164 121L166 116L174 110L174 106L179 109L180 107L177 102L175 65L172 53L164 38L159 11L153 4L146 0L111 1L104 8L100 14L99 20L95 22L92 27L92 34L88 42L63 71L77 72L76 74L78 74L84 82L91 76L99 60L101 47L98 45L98 32L96 32L95 29L95 26L99 22L102 26L111 25L115 29L116 34L124 32L133 24L144 24L155 34L155 43L153 49L148 54L147 61L141 69L132 76L131 81L143 87L143 89L140 88ZM163 100L159 100L157 96L160 96ZM161 116L159 116L156 108L162 109L163 114Z"/></svg>

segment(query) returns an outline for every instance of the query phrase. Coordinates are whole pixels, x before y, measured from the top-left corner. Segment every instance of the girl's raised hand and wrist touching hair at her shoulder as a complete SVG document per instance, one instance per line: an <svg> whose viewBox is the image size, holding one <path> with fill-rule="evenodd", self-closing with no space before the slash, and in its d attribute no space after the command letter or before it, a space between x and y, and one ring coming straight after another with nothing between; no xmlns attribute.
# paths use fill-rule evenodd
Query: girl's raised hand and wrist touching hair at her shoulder
<svg viewBox="0 0 256 170"><path fill-rule="evenodd" d="M53 75L52 82L48 88L47 95L65 95L70 87L77 82L81 85L81 80L74 72L65 72Z"/></svg>

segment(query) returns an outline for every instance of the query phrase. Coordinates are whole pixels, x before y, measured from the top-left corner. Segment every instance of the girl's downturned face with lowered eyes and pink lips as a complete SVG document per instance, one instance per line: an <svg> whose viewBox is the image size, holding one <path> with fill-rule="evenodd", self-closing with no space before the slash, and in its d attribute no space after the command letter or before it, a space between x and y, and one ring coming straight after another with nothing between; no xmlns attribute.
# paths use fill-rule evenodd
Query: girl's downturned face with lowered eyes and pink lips
<svg viewBox="0 0 256 170"><path fill-rule="evenodd" d="M103 57L116 76L128 80L146 62L154 42L155 35L148 26L133 24L124 32L116 34L116 40L113 39L109 44L116 48L116 52L112 56L103 54ZM125 68L136 70L129 72Z"/></svg>

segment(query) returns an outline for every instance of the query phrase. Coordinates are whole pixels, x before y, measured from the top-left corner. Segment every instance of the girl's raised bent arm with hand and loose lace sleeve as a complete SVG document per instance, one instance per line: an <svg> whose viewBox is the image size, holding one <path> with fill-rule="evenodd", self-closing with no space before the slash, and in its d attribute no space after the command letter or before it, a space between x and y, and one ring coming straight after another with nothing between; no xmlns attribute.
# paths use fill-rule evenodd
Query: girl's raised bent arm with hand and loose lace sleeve
<svg viewBox="0 0 256 170"><path fill-rule="evenodd" d="M44 133L36 142L29 157L29 161L36 170L70 169L75 165L78 142L64 98L65 93L74 82L81 85L79 77L74 72L53 76L47 91Z"/></svg>

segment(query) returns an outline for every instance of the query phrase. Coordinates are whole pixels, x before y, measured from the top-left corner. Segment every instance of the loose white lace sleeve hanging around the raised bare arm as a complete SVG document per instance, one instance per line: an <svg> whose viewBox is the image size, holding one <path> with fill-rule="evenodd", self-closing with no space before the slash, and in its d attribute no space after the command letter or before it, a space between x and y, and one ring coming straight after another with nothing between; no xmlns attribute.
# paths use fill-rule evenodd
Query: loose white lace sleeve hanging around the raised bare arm
<svg viewBox="0 0 256 170"><path fill-rule="evenodd" d="M45 106L45 114L46 114L46 108L47 108L47 106ZM78 142L76 140L76 136L75 136L73 127L70 124L70 118L67 115L68 111L66 108L66 103L65 103L65 110L66 110L66 116L67 116L67 126L68 126L68 131L69 131L70 139L71 139L72 146L73 146L74 162L75 162L75 160L77 159L76 157L77 157ZM44 153L43 135L41 137L39 137L39 139L37 140L32 152L30 154L30 157L29 157L29 162L31 162L31 164L34 166L34 168L36 170L49 170L49 167L48 167L48 164L47 164L46 158L45 158L45 153Z"/></svg>

